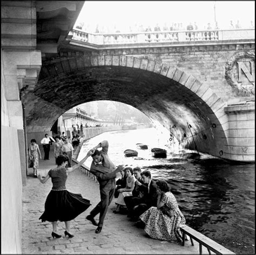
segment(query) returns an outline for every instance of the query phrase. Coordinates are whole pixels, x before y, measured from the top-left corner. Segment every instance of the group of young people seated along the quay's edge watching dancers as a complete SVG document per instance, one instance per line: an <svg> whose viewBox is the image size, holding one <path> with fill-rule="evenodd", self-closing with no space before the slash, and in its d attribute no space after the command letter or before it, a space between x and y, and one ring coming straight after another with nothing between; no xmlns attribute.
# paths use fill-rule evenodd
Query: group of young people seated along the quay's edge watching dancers
<svg viewBox="0 0 256 255"><path fill-rule="evenodd" d="M144 228L147 235L158 240L181 243L179 227L185 217L179 210L176 198L164 180L154 181L149 170L126 167L117 180L114 197L117 198L114 213L124 213Z"/></svg>

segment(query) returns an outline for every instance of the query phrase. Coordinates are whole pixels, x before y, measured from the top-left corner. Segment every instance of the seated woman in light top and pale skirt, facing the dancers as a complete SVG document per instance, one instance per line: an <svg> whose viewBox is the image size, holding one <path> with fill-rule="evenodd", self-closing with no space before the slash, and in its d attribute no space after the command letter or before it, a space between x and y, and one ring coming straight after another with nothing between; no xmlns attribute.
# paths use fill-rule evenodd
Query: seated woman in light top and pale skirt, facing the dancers
<svg viewBox="0 0 256 255"><path fill-rule="evenodd" d="M120 207L125 206L124 197L132 196L132 190L134 189L134 185L136 182L136 178L133 175L133 170L131 167L126 167L124 169L126 175L126 187L118 190L119 196L117 198L117 208L114 210L114 213L120 212Z"/></svg>

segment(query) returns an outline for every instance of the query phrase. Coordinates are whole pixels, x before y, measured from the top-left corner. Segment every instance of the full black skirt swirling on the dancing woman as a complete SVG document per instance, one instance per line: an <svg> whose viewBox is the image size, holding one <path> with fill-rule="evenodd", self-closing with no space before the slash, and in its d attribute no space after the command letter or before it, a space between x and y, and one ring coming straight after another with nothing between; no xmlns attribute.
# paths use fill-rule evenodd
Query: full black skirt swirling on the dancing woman
<svg viewBox="0 0 256 255"><path fill-rule="evenodd" d="M90 200L68 190L51 190L46 198L42 222L68 222L75 219L90 206Z"/></svg>

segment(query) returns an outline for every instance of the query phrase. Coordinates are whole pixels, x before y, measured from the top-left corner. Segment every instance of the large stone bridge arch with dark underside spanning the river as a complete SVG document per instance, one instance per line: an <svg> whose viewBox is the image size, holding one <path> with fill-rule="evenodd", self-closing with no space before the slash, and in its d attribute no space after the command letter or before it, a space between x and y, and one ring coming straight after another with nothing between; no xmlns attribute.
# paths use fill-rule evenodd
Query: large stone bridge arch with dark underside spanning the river
<svg viewBox="0 0 256 255"><path fill-rule="evenodd" d="M187 148L225 157L225 102L192 75L145 58L102 55L44 61L36 87L22 91L27 132L48 131L68 109L94 100L132 105L170 129Z"/></svg>

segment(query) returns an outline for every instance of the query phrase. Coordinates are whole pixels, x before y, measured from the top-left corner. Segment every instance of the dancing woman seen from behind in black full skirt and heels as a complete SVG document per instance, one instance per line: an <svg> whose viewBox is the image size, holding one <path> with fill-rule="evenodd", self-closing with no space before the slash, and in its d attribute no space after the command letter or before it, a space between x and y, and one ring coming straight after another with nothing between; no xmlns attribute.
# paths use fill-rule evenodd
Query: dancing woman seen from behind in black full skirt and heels
<svg viewBox="0 0 256 255"><path fill-rule="evenodd" d="M78 164L71 168L66 168L69 158L65 155L60 155L56 158L57 167L50 169L48 174L43 178L38 175L41 183L45 183L51 178L52 190L46 198L44 205L44 213L39 218L42 222L46 220L52 223L52 237L60 238L57 232L57 221L65 222L65 236L73 237L70 233L70 220L75 219L80 213L89 208L90 201L82 197L81 194L73 194L66 190L66 180L68 174L73 170L79 169L80 166L90 157L91 151Z"/></svg>

